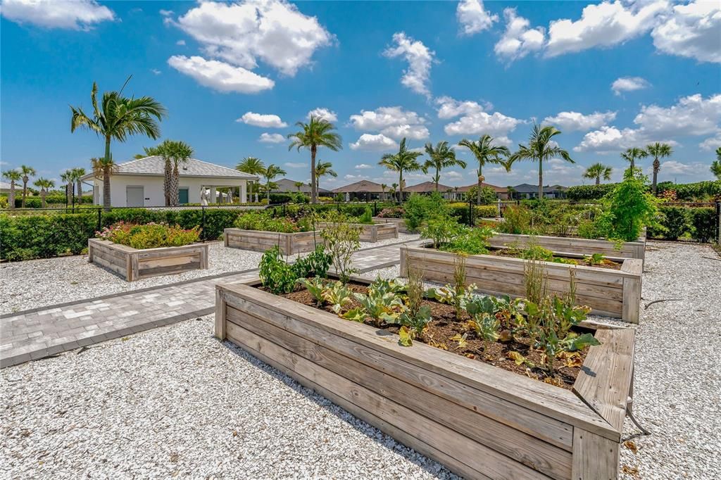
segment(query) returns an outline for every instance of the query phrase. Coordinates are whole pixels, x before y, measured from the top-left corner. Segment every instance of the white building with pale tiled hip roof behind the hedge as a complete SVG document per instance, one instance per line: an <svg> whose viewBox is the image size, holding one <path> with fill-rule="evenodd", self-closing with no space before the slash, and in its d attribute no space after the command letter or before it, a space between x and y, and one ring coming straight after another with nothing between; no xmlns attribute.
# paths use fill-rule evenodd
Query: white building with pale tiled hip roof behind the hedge
<svg viewBox="0 0 721 480"><path fill-rule="evenodd" d="M161 156L146 156L143 159L118 164L110 176L110 205L112 207L162 207L165 205L163 190L165 161ZM208 203L220 203L224 195L216 189L230 187L234 198L246 202L247 185L257 182L255 175L244 174L226 166L209 164L206 161L190 159L180 164L180 204L200 203L200 192L206 191ZM93 203L102 205L102 179L93 174L82 177L92 182Z"/></svg>

